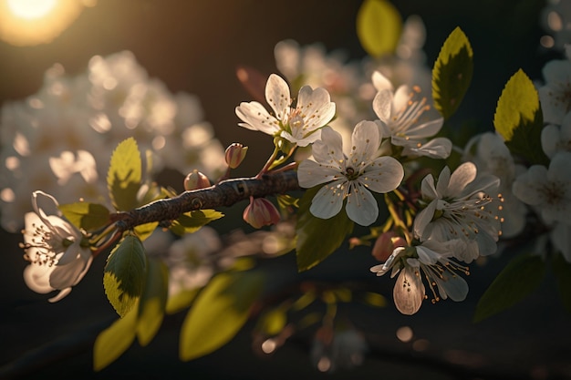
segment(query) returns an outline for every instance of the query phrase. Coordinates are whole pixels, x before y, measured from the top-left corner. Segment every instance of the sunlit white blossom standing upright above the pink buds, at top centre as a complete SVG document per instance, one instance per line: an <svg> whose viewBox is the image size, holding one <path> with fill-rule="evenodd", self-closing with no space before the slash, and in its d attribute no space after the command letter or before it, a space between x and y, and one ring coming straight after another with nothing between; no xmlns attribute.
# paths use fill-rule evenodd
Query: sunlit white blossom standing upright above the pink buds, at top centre
<svg viewBox="0 0 571 380"><path fill-rule="evenodd" d="M239 126L259 130L274 137L281 137L299 147L319 139L319 128L335 116L335 103L331 102L325 88L315 90L301 87L296 107L292 107L289 87L282 77L272 74L265 84L265 99L274 114L256 101L242 102L236 107L236 116L244 122Z"/></svg>

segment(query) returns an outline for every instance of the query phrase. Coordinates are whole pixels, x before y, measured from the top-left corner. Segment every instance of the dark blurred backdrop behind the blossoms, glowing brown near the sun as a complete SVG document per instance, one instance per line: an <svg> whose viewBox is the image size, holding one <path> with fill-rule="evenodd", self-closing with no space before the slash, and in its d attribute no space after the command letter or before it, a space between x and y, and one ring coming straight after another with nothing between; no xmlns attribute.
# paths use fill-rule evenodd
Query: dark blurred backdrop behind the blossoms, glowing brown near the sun
<svg viewBox="0 0 571 380"><path fill-rule="evenodd" d="M56 64L67 75L76 76L86 72L93 56L129 51L148 77L163 82L172 94L196 96L202 120L212 126L222 147L232 142L250 147L236 175L254 175L273 149L266 135L237 126L234 108L252 100L236 77L237 67L252 67L265 77L276 72L274 48L285 39L300 46L319 43L327 53L341 50L348 61L366 56L356 34L355 20L362 4L356 0L62 0L63 5L57 5L62 7L61 19L53 16L51 31L42 29L40 18L34 18L39 15L21 11L24 18L18 17L10 3L3 1L0 6L0 105L36 94L44 86L47 70ZM541 43L548 34L542 26L545 1L399 0L394 5L403 19L420 16L426 30L422 50L427 67L452 30L462 27L474 51L474 74L455 118L470 120L479 130L493 130L497 99L518 68L539 80L545 62L563 57L561 49L547 48L545 39ZM33 9L39 12L40 7L36 4ZM6 136L3 130L2 139ZM181 172L166 170L160 180L182 189ZM228 221L216 224L220 232L244 227L241 210L225 212ZM6 378L571 378L570 318L557 302L554 283L545 281L537 293L508 312L472 323L475 304L501 270L505 256L472 268L470 293L463 303L425 304L411 317L398 313L391 301L380 309L349 307L353 323L369 339L363 364L350 371L319 372L309 356L311 339L303 335L292 338L275 354L260 356L252 349L250 324L231 344L182 363L177 354L182 313L168 316L149 346L133 344L116 363L94 373L93 339L116 315L101 284L104 259L94 262L67 298L47 303L45 295L33 293L22 280L26 262L18 248L21 234L5 230L0 234L0 284L4 289L0 294L0 374ZM355 257L349 265L348 254ZM290 256L272 265L280 275L285 272L295 277L295 258ZM351 279L363 268L368 272L369 264L367 250L343 252L305 275ZM376 283L380 292L391 294L388 278ZM396 334L402 327L410 336ZM418 341L426 344L415 346Z"/></svg>

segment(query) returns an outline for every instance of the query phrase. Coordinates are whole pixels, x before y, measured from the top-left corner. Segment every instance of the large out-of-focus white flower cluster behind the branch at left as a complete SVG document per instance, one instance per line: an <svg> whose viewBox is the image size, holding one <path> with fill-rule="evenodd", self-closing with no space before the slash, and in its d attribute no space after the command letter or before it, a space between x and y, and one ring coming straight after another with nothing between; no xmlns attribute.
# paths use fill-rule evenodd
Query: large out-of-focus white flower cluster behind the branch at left
<svg viewBox="0 0 571 380"><path fill-rule="evenodd" d="M128 137L141 151L150 149L154 170L217 176L224 169L223 147L202 120L198 98L172 94L129 51L93 56L75 77L55 65L36 94L1 111L0 206L7 231L22 227L27 194L36 189L62 203L104 203L109 157Z"/></svg>

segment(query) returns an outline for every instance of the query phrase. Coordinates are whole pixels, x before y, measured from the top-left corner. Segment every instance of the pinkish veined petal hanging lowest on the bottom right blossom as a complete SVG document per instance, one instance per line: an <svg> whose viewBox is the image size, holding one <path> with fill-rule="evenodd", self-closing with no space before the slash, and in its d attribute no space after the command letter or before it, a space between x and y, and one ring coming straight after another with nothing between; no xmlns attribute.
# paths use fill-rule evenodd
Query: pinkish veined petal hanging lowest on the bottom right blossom
<svg viewBox="0 0 571 380"><path fill-rule="evenodd" d="M400 313L412 315L418 312L424 300L424 285L420 275L407 266L400 272L392 295Z"/></svg>

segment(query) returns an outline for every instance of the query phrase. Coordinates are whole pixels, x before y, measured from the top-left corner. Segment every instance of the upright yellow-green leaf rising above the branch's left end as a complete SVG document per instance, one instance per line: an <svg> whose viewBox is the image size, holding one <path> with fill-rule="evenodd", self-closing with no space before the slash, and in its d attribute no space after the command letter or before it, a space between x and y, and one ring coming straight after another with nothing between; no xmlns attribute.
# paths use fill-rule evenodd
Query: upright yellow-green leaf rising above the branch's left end
<svg viewBox="0 0 571 380"><path fill-rule="evenodd" d="M107 174L109 196L115 209L130 211L139 206L137 193L140 184L140 151L135 139L125 139L113 151Z"/></svg>

